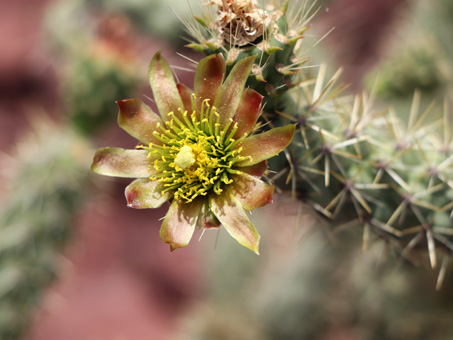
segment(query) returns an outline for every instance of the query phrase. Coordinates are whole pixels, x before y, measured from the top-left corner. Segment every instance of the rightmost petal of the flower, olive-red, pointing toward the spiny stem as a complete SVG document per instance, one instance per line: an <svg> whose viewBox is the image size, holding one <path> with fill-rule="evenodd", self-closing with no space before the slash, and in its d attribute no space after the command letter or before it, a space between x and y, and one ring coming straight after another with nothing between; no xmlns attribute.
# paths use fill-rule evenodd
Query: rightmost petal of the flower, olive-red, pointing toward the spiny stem
<svg viewBox="0 0 453 340"><path fill-rule="evenodd" d="M253 165L277 155L291 142L295 129L296 125L291 124L244 139L238 145L238 148L242 148L240 155L251 156L252 159L246 159L238 163L238 166Z"/></svg>

